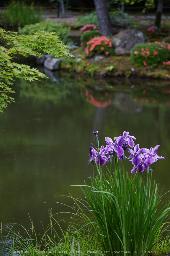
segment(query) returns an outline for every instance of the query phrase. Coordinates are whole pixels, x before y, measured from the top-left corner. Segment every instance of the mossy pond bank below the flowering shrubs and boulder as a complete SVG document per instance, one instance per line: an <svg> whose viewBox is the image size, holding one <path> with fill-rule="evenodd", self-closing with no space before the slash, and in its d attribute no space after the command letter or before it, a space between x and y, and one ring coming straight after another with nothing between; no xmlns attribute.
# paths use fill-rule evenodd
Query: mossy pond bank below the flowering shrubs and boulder
<svg viewBox="0 0 170 256"><path fill-rule="evenodd" d="M72 51L74 58L62 58L61 69L91 76L113 76L122 78L148 78L169 80L169 70L158 65L157 68L136 67L130 62L130 56L95 55L85 58L83 49Z"/></svg>

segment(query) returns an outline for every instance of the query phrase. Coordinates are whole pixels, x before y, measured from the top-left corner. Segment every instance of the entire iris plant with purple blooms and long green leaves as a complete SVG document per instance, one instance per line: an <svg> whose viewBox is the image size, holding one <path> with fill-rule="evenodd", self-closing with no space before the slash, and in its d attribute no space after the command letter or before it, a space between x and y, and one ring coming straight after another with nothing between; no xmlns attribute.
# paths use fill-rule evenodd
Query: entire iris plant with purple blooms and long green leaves
<svg viewBox="0 0 170 256"><path fill-rule="evenodd" d="M93 218L82 209L84 218L96 233L103 253L107 251L112 256L154 253L152 248L161 237L160 230L164 230L163 224L170 211L169 203L158 210L161 196L158 183L152 182L153 163L164 159L157 155L159 145L139 148L133 141L135 137L123 132L114 141L105 137L106 147L99 147L98 132L93 133L97 137L97 148L90 147L89 151L93 177L90 177L90 185L81 186L88 203L86 210ZM130 153L128 159L133 164L130 174L125 170L125 151ZM106 162L110 163L110 168L106 166L104 174L101 166Z"/></svg>

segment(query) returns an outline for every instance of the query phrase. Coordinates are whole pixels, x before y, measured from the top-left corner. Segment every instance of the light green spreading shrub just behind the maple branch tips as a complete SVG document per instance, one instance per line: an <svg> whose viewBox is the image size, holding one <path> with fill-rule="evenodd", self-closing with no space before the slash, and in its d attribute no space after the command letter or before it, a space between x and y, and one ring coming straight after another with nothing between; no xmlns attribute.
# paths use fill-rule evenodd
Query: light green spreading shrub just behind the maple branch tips
<svg viewBox="0 0 170 256"><path fill-rule="evenodd" d="M46 31L46 32L56 32L56 36L60 37L60 40L65 44L73 43L69 39L70 28L64 27L63 23L56 23L51 20L44 20L41 23L26 25L24 28L18 29L20 34L32 35L33 33Z"/></svg>

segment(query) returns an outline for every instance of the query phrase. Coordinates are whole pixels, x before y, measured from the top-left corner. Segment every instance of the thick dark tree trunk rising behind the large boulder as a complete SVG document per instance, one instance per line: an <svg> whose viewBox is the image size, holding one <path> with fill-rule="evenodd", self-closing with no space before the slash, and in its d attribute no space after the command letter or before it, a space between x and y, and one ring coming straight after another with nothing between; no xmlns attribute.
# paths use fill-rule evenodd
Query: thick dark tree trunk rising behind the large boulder
<svg viewBox="0 0 170 256"><path fill-rule="evenodd" d="M112 25L110 22L109 11L106 0L94 0L97 17L99 20L99 29L103 36L112 35Z"/></svg>

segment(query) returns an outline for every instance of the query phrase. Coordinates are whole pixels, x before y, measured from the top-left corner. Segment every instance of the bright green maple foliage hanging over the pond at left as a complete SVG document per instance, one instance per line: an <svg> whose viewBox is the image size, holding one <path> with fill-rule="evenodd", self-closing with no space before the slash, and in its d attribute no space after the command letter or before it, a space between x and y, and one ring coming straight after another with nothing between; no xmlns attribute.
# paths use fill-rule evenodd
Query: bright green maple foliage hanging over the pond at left
<svg viewBox="0 0 170 256"><path fill-rule="evenodd" d="M14 102L14 98L10 96L15 93L10 88L14 78L34 81L46 77L36 68L13 62L14 55L42 57L42 53L51 53L53 57L73 57L68 46L59 40L55 32L40 31L26 36L0 28L0 41L5 42L4 47L0 46L0 112L3 112L9 103Z"/></svg>

